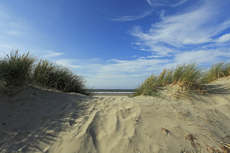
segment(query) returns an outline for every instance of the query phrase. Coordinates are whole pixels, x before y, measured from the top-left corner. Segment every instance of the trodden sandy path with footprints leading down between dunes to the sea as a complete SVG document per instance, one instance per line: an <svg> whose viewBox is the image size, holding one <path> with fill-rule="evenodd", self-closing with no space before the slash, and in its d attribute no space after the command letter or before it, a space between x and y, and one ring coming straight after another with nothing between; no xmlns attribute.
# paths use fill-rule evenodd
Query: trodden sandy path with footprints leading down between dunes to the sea
<svg viewBox="0 0 230 153"><path fill-rule="evenodd" d="M125 97L95 99L97 102L88 115L87 121L77 130L80 130L81 134L73 137L76 129L73 129L70 134L72 136L68 142L69 150L79 148L79 152L111 152L121 141L129 140L134 135L134 122L140 114L138 105ZM62 139L66 140L66 137L63 136ZM54 149L53 152L59 151L57 146L60 145L66 144L60 142L50 149Z"/></svg>

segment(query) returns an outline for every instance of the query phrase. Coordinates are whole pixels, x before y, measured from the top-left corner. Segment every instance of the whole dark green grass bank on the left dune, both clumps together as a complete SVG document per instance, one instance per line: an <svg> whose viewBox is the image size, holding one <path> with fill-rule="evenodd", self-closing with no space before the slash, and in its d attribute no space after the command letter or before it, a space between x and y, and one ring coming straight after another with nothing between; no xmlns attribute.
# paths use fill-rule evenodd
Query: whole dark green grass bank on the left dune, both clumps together
<svg viewBox="0 0 230 153"><path fill-rule="evenodd" d="M36 58L29 56L29 52L22 56L18 51L6 55L0 60L1 87L21 87L35 80L63 92L90 95L90 90L85 88L85 80L70 69L47 60L40 60L35 65L35 61Z"/></svg>

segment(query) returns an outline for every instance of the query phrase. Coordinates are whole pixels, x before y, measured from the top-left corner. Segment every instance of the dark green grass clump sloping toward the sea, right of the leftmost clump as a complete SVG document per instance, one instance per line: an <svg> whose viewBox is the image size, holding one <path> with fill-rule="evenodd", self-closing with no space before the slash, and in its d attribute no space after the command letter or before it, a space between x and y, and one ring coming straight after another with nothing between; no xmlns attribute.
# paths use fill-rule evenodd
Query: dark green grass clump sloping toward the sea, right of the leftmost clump
<svg viewBox="0 0 230 153"><path fill-rule="evenodd" d="M75 75L66 67L47 60L40 60L35 66L33 79L63 92L90 94L89 90L85 88L85 80L81 76Z"/></svg>

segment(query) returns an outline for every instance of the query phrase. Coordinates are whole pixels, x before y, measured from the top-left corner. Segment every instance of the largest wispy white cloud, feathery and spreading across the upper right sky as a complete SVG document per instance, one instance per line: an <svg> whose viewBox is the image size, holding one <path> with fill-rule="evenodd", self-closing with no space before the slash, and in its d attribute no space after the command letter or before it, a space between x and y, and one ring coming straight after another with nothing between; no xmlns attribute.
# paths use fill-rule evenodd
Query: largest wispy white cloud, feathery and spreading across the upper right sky
<svg viewBox="0 0 230 153"><path fill-rule="evenodd" d="M175 54L179 50L190 49L191 46L214 43L212 38L224 29L230 27L230 17L221 19L227 8L218 1L204 1L200 6L194 6L176 15L168 15L162 21L155 23L147 32L135 27L131 35L138 38L134 44L139 49L146 49L158 55ZM224 12L225 11L225 12ZM219 39L226 40L227 36ZM190 48L187 48L189 45Z"/></svg>

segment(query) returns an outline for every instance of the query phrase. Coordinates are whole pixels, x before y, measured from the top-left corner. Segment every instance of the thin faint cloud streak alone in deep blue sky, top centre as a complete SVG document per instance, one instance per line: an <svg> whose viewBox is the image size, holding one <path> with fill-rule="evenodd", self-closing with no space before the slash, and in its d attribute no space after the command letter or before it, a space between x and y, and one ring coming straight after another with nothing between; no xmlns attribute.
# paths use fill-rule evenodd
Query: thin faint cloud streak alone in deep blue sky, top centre
<svg viewBox="0 0 230 153"><path fill-rule="evenodd" d="M111 19L112 21L133 21L145 18L149 15L152 15L153 11L145 11L144 13L138 14L136 16L122 16L119 18Z"/></svg>

